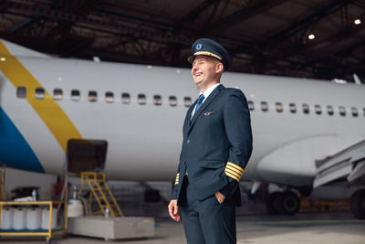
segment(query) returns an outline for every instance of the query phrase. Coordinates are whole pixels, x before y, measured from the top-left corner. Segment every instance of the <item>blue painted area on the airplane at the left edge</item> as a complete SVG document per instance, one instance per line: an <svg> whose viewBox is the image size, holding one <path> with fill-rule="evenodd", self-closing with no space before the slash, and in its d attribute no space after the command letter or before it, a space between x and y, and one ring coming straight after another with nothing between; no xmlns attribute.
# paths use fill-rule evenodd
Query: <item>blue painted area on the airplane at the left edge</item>
<svg viewBox="0 0 365 244"><path fill-rule="evenodd" d="M8 167L45 173L26 139L0 107L0 164Z"/></svg>

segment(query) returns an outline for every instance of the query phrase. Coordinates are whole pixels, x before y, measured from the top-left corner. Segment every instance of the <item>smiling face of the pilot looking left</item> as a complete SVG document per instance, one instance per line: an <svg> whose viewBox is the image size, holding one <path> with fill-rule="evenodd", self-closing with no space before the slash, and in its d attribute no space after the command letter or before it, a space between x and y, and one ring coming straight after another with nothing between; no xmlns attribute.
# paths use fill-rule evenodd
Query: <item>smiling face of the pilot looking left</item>
<svg viewBox="0 0 365 244"><path fill-rule="evenodd" d="M219 83L224 67L216 58L196 56L193 60L192 75L195 85L204 92L210 86Z"/></svg>

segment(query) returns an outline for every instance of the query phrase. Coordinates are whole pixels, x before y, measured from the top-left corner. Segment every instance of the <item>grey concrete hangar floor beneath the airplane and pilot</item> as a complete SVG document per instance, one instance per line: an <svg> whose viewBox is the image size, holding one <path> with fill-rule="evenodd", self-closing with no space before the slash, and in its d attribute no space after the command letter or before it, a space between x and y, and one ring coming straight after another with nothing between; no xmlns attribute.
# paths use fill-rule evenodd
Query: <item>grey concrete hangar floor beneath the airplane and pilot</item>
<svg viewBox="0 0 365 244"><path fill-rule="evenodd" d="M43 238L2 238L1 243L46 243ZM106 243L103 239L71 236L52 239L54 244ZM108 242L107 242L108 243ZM183 225L170 219L156 220L156 236L152 239L111 241L123 244L183 244L186 243ZM365 220L357 220L350 213L300 213L294 217L244 216L237 217L237 243L255 244L364 244Z"/></svg>

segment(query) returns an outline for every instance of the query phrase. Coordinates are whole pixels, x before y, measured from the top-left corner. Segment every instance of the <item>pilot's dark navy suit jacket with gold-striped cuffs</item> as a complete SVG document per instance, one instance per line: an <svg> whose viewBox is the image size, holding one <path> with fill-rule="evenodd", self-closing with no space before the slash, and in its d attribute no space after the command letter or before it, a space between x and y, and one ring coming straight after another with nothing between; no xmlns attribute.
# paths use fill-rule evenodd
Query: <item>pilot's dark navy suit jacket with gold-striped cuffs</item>
<svg viewBox="0 0 365 244"><path fill-rule="evenodd" d="M183 148L172 191L182 204L183 175L199 199L220 191L241 205L238 186L252 152L250 112L241 90L216 87L190 120L196 101L183 123Z"/></svg>

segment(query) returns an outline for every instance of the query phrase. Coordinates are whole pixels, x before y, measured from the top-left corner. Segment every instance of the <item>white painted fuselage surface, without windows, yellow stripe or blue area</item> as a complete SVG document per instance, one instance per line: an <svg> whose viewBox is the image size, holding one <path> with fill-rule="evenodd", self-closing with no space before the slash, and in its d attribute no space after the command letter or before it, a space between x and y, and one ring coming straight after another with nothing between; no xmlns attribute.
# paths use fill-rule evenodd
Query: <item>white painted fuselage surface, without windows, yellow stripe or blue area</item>
<svg viewBox="0 0 365 244"><path fill-rule="evenodd" d="M10 49L10 48L9 48ZM190 69L91 62L49 57L18 57L19 61L50 93L62 89L58 105L84 139L108 142L105 172L110 179L173 180L183 140L184 97L194 101L199 90ZM292 186L311 185L315 160L365 138L365 87L320 80L300 80L227 72L222 83L244 91L254 101L251 111L254 151L243 180L256 180ZM71 90L80 90L80 101L71 101ZM98 101L88 100L89 90L98 92ZM105 101L105 92L114 93L114 102ZM34 94L34 90L28 90ZM130 104L123 104L121 93L130 93ZM145 94L147 103L137 101ZM162 96L162 105L153 96ZM169 105L169 97L177 106ZM268 103L262 111L260 102ZM283 111L276 111L276 102ZM297 112L289 111L295 103ZM308 104L305 114L302 104ZM322 113L316 114L315 104ZM334 108L329 116L327 105ZM16 98L16 88L0 72L0 106L35 152L46 173L63 173L66 154L55 137L24 99ZM339 106L346 116L339 115ZM353 117L351 107L359 110ZM47 109L45 107L45 109ZM57 118L55 118L57 120Z"/></svg>

